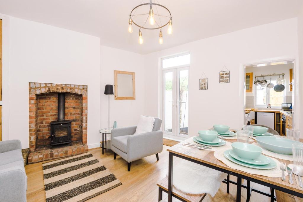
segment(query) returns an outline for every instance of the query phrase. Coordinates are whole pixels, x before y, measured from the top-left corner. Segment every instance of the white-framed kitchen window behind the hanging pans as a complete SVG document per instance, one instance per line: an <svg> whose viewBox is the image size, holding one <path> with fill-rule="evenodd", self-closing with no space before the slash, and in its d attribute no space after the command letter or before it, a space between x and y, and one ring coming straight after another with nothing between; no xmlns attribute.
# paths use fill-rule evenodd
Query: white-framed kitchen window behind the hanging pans
<svg viewBox="0 0 303 202"><path fill-rule="evenodd" d="M271 80L276 85L276 80ZM285 102L285 90L282 92L274 91L274 88L261 88L260 85L255 88L255 107L266 108L271 104L272 108L281 108L281 104Z"/></svg>

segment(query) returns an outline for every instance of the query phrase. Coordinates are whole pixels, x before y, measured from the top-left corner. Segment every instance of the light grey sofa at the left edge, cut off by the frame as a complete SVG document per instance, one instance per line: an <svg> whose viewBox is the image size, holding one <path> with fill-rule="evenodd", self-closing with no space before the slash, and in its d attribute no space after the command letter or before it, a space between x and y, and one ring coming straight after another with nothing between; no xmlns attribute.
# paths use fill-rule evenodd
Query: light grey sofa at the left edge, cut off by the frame
<svg viewBox="0 0 303 202"><path fill-rule="evenodd" d="M0 201L26 201L27 176L19 140L0 142Z"/></svg>

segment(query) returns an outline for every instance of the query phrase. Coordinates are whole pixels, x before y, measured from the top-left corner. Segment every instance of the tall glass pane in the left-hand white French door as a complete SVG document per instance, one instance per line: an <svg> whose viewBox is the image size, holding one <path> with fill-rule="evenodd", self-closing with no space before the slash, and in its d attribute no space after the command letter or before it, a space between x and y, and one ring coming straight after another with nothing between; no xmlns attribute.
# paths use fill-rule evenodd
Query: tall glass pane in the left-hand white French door
<svg viewBox="0 0 303 202"><path fill-rule="evenodd" d="M172 132L172 72L165 73L165 131Z"/></svg>

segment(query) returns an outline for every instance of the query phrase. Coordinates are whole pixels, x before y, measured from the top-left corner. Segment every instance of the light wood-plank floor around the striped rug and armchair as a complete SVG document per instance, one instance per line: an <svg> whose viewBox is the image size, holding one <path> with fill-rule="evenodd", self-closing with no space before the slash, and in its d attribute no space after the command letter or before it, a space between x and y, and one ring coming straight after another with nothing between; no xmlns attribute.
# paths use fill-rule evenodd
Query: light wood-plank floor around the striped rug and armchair
<svg viewBox="0 0 303 202"><path fill-rule="evenodd" d="M114 160L111 150L107 150L102 155L101 149L91 149L91 152L100 162L102 162L115 176L122 182L122 185L102 193L88 202L157 202L158 187L157 182L163 179L168 172L168 146L163 146L163 151L159 154L159 161L156 156L148 156L146 158L132 162L131 171L127 171L127 162L120 156ZM45 163L45 162L43 162ZM43 182L42 162L25 166L28 176L27 201L43 201L45 202L45 191ZM235 178L231 180L236 181ZM244 181L245 183L245 181ZM269 188L251 183L253 188L265 190L269 193ZM163 194L163 199L167 194ZM230 193L226 193L226 184L221 183L214 198L207 195L203 202L232 202L235 201L236 186L230 186ZM246 189L242 188L242 200L246 200ZM174 200L179 201L179 200ZM259 193L252 192L251 200L254 202L269 202L269 197Z"/></svg>

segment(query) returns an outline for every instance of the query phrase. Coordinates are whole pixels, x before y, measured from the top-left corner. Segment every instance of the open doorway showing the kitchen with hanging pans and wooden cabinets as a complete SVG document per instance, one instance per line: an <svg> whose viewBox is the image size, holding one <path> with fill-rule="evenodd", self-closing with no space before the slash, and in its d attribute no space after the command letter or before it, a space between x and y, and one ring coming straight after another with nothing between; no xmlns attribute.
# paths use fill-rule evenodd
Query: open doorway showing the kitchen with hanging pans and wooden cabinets
<svg viewBox="0 0 303 202"><path fill-rule="evenodd" d="M244 65L244 124L293 128L295 60Z"/></svg>

